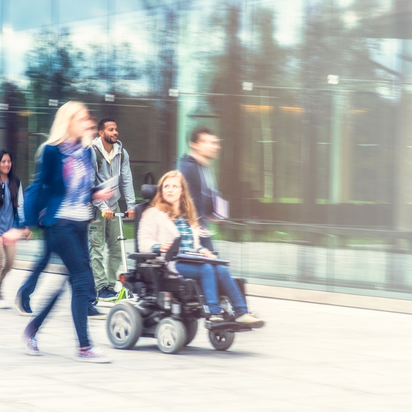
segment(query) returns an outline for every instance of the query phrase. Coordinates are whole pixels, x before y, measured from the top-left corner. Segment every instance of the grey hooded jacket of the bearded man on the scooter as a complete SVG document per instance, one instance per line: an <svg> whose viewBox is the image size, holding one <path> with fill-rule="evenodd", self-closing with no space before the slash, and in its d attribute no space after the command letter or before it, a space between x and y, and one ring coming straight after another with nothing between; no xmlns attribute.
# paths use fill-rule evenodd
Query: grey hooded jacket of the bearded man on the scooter
<svg viewBox="0 0 412 412"><path fill-rule="evenodd" d="M99 170L97 171L97 164L96 164L96 153L94 150L91 151L91 164L94 167L94 170L97 171L96 180L94 182L95 185L100 185L104 183L106 180L114 177L119 176L119 183L122 183L122 189L124 193L124 197L126 198L127 209L133 209L134 203L136 198L134 196L133 190L133 180L131 177L130 171L130 164L129 164L129 155L127 154L126 150L123 149L124 152L124 159L123 163L120 164L120 155L122 153L122 142L117 140L117 143L113 145L113 159L112 164L105 159L103 156L103 142L100 136L96 137L92 144L96 146L97 150L99 150L102 154L102 165L100 166ZM115 190L112 197L106 201L93 201L94 206L97 206L101 211L105 209L110 209L114 211L118 204L117 201L120 199L120 190L119 187Z"/></svg>

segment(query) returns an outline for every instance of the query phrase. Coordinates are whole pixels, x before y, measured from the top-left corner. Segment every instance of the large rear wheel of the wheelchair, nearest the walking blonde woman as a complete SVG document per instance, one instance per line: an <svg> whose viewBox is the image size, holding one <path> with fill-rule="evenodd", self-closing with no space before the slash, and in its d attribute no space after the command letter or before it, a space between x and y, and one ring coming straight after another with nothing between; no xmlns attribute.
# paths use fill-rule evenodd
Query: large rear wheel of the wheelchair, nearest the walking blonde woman
<svg viewBox="0 0 412 412"><path fill-rule="evenodd" d="M117 303L109 312L107 335L117 349L132 348L143 330L143 321L136 307L128 302Z"/></svg>

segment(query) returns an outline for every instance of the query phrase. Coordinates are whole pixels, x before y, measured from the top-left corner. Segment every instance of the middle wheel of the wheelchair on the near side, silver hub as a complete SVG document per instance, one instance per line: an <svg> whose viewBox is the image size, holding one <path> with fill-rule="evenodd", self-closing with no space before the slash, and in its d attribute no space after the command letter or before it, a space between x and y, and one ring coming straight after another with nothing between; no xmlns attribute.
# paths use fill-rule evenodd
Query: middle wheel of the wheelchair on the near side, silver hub
<svg viewBox="0 0 412 412"><path fill-rule="evenodd" d="M187 339L183 322L173 318L163 318L156 326L157 347L164 353L178 353Z"/></svg>

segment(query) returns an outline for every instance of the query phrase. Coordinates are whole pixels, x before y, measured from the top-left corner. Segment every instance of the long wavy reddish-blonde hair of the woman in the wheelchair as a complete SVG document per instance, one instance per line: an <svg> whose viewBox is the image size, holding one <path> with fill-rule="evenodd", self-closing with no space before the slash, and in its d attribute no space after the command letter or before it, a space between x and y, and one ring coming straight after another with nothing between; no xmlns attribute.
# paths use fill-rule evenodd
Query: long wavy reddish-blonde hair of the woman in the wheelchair
<svg viewBox="0 0 412 412"><path fill-rule="evenodd" d="M187 189L187 183L185 177L178 170L172 170L165 173L157 183L157 192L150 204L157 207L162 212L166 213L171 220L176 220L180 216L176 215L173 210L173 206L168 203L162 193L162 186L166 179L169 178L180 178L180 185L182 186L182 195L180 197L180 216L186 219L190 226L199 227L198 217L196 213L196 208L194 207L192 198L190 197L189 190Z"/></svg>

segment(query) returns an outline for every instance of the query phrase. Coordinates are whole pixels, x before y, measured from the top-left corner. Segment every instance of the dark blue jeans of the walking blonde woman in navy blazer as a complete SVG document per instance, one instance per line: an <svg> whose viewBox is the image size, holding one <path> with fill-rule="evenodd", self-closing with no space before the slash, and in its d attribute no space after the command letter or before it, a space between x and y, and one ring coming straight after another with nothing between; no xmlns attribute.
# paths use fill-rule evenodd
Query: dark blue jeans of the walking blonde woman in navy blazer
<svg viewBox="0 0 412 412"><path fill-rule="evenodd" d="M47 247L60 256L66 266L72 286L72 315L80 347L89 346L87 334L87 301L93 274L89 266L87 222L61 220L46 229ZM61 294L57 292L50 303L26 327L33 336Z"/></svg>

